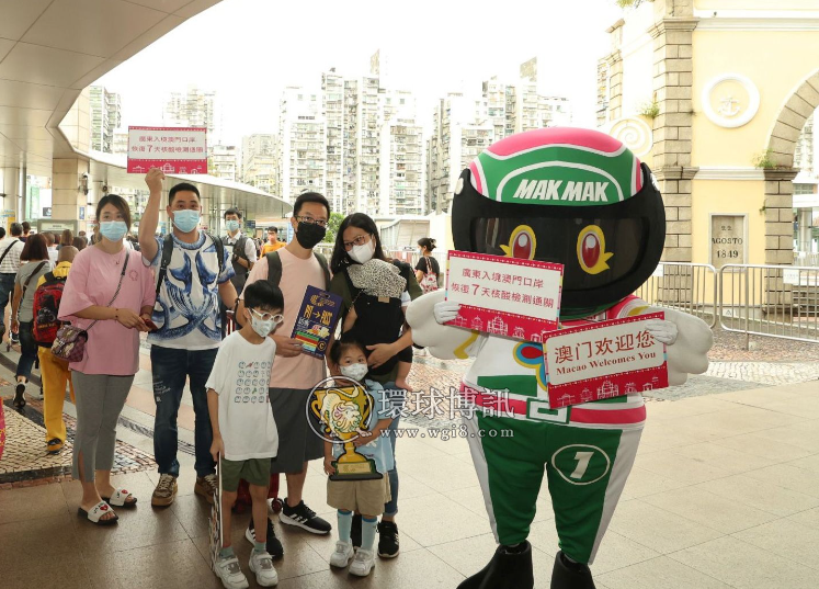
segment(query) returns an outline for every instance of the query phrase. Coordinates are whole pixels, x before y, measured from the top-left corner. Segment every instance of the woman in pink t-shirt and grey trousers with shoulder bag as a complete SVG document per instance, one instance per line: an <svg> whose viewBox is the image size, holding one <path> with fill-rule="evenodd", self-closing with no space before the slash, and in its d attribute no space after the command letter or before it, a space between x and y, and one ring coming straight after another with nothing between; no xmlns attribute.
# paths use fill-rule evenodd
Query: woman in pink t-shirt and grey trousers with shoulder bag
<svg viewBox="0 0 819 589"><path fill-rule="evenodd" d="M156 298L153 273L141 253L123 246L130 211L109 194L96 205L100 240L73 261L59 318L88 330L82 360L69 364L77 396L73 477L82 482L79 513L99 524L117 520L111 509L136 497L111 485L116 422L139 370L139 332L148 331Z"/></svg>

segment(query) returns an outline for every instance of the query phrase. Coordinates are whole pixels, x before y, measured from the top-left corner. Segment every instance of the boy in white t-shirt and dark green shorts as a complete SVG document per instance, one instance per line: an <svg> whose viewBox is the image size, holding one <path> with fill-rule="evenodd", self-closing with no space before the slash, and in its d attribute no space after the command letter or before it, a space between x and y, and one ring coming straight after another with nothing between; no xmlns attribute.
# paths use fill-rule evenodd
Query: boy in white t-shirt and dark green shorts
<svg viewBox="0 0 819 589"><path fill-rule="evenodd" d="M276 344L268 336L282 322L284 297L268 281L251 284L243 294L244 327L221 342L206 385L214 432L211 454L215 461L221 455L223 539L216 573L226 589L248 587L230 542L230 509L242 478L250 487L257 530L250 570L262 587L278 582L265 547L270 461L278 451L278 432L268 399Z"/></svg>

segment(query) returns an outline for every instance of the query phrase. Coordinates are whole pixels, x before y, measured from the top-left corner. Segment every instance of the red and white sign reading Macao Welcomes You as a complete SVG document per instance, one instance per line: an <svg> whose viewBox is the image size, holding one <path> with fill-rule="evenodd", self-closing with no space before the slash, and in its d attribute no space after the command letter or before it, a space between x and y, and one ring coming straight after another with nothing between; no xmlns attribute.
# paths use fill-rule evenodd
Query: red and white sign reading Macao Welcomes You
<svg viewBox="0 0 819 589"><path fill-rule="evenodd" d="M562 329L546 337L543 353L549 407L557 409L669 386L666 344L646 330L663 313Z"/></svg>

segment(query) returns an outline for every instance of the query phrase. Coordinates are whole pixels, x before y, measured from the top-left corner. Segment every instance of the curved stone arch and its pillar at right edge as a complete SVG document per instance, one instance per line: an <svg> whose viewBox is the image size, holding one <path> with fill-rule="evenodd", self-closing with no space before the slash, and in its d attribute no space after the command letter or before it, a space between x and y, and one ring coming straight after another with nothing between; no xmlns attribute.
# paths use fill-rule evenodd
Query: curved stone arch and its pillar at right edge
<svg viewBox="0 0 819 589"><path fill-rule="evenodd" d="M794 152L808 117L819 107L819 69L788 95L767 139L775 168L765 169L765 263L790 264L793 253Z"/></svg>

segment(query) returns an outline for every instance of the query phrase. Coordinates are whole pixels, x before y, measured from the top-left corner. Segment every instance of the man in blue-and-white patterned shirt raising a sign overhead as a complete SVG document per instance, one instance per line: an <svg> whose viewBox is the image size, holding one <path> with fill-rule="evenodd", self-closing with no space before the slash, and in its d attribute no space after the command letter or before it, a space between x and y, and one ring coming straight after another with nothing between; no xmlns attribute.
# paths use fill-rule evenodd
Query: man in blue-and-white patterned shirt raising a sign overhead
<svg viewBox="0 0 819 589"><path fill-rule="evenodd" d="M166 212L173 223L173 231L164 238L155 237L163 180L164 174L157 168L146 175L150 196L139 225L144 261L156 269L157 280L161 280L152 316L158 329L148 336L157 404L153 455L160 475L151 505L169 506L177 496L177 416L186 378L190 378L196 418L194 490L213 502L218 482L211 456L213 431L205 383L221 341L219 298L228 308L236 302L236 288L230 282L235 272L220 239L200 229L202 201L193 184L171 188ZM169 247L172 252L163 256ZM161 271L163 263L167 263L166 272Z"/></svg>

